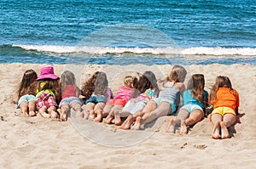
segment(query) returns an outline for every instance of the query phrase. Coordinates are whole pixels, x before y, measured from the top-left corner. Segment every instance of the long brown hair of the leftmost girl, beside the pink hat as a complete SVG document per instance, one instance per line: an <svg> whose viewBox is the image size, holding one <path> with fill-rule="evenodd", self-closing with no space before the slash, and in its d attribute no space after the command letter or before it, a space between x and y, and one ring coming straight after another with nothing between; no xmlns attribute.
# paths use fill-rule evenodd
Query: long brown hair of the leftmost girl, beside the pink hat
<svg viewBox="0 0 256 169"><path fill-rule="evenodd" d="M38 74L35 70L26 70L22 76L21 82L18 85L17 96L20 99L25 94L36 94L36 79Z"/></svg>

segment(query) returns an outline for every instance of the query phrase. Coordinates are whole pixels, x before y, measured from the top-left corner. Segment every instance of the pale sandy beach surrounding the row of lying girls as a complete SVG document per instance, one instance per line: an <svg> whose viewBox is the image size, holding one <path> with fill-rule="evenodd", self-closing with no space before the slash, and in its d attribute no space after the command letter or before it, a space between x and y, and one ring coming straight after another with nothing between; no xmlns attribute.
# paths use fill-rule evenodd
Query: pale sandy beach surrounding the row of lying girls
<svg viewBox="0 0 256 169"><path fill-rule="evenodd" d="M256 166L256 66L189 65L188 77L202 73L209 91L216 76L229 76L240 94L240 122L231 138L211 138L212 124L203 119L188 135L170 134L173 116L160 117L142 131L124 131L82 119L67 121L24 117L14 103L15 87L27 69L42 65L1 64L0 164L3 168L254 168ZM113 93L127 74L152 70L165 77L172 65L53 65L55 74L72 70L81 86L91 73L107 73ZM187 77L187 79L188 79Z"/></svg>

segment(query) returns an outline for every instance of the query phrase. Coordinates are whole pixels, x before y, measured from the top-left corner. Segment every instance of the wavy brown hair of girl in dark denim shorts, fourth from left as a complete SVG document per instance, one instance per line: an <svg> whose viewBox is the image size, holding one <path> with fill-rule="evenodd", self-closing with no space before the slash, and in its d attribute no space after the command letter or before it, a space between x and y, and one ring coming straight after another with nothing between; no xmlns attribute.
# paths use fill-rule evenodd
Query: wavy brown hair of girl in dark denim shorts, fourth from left
<svg viewBox="0 0 256 169"><path fill-rule="evenodd" d="M106 96L108 89L108 79L106 73L96 71L82 86L84 99L89 99L92 93ZM106 96L108 97L108 96Z"/></svg>

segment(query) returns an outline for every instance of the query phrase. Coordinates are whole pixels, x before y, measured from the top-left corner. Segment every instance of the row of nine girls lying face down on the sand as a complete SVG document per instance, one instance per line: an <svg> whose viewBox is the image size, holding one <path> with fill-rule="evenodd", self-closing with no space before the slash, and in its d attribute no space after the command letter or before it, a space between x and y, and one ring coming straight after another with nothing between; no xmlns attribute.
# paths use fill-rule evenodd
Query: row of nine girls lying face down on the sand
<svg viewBox="0 0 256 169"><path fill-rule="evenodd" d="M204 75L192 75L185 87L186 75L183 66L174 65L160 83L152 71L139 77L125 76L113 96L105 72L96 71L79 89L73 72L65 70L60 78L53 66L46 65L41 68L40 76L34 70L26 70L18 87L17 105L23 115L34 116L38 110L46 118L67 121L67 113L73 109L86 120L134 130L160 116L176 115L169 121L166 132L175 133L180 127L179 132L184 134L206 116L207 106L212 105L212 113L208 115L213 125L212 138L230 138L228 128L236 123L239 94L232 88L229 77L217 76L208 94Z"/></svg>

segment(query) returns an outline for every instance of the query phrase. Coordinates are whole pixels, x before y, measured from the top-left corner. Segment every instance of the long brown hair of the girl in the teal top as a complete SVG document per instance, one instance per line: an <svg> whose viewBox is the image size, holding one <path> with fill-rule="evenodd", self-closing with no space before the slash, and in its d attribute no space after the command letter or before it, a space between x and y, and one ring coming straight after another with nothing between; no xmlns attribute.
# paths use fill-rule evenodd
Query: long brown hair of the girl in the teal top
<svg viewBox="0 0 256 169"><path fill-rule="evenodd" d="M201 102L201 104L204 105L204 108L206 108L206 102L205 102L205 77L202 74L194 74L192 75L191 79L188 82L187 89L192 90L192 97L197 99Z"/></svg>

